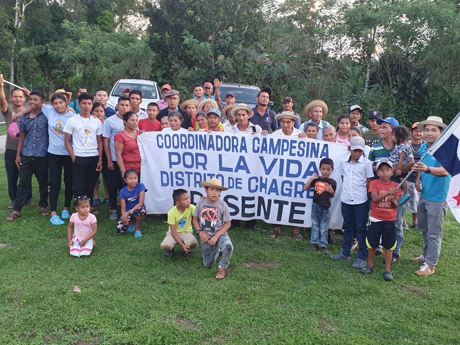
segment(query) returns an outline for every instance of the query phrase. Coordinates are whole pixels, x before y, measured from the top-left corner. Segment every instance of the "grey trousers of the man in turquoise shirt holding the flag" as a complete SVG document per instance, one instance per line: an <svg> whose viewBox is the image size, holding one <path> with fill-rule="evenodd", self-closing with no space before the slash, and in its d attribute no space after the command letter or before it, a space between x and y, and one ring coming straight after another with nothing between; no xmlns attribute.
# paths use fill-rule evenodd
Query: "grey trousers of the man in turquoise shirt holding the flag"
<svg viewBox="0 0 460 345"><path fill-rule="evenodd" d="M446 211L445 201L428 201L420 196L417 205L417 223L423 236L422 255L428 266L436 266L441 252Z"/></svg>

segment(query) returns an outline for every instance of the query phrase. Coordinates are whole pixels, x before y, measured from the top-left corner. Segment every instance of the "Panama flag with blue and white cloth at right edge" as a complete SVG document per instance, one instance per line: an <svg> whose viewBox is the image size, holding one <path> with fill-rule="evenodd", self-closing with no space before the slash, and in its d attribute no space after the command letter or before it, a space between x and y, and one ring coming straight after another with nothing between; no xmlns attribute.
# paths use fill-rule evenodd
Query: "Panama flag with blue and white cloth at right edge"
<svg viewBox="0 0 460 345"><path fill-rule="evenodd" d="M428 151L452 176L446 202L460 223L460 113Z"/></svg>

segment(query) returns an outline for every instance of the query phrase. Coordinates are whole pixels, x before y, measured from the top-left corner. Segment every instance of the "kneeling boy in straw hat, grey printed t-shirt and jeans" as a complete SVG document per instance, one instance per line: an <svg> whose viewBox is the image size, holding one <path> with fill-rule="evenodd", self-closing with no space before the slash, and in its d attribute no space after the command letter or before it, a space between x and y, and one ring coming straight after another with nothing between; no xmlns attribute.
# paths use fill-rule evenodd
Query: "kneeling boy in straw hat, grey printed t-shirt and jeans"
<svg viewBox="0 0 460 345"><path fill-rule="evenodd" d="M196 203L193 226L201 239L201 254L205 267L212 268L222 253L216 274L216 279L222 279L227 274L226 270L233 254L233 244L227 234L231 224L229 208L219 199L220 192L228 188L222 187L217 178L203 181L200 185L205 188L207 196Z"/></svg>

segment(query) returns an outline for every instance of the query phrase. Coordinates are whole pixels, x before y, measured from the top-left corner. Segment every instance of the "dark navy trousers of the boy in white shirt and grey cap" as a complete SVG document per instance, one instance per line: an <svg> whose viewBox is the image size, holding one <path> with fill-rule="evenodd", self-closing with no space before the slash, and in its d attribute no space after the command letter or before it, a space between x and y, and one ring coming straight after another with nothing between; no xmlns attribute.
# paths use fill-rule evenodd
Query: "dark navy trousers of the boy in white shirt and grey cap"
<svg viewBox="0 0 460 345"><path fill-rule="evenodd" d="M356 227L358 247L358 259L366 260L368 255L366 243L366 224L368 222L369 202L349 205L342 202L342 217L344 218L343 231L344 242L342 243L342 254L350 256L351 242L353 241L353 230Z"/></svg>

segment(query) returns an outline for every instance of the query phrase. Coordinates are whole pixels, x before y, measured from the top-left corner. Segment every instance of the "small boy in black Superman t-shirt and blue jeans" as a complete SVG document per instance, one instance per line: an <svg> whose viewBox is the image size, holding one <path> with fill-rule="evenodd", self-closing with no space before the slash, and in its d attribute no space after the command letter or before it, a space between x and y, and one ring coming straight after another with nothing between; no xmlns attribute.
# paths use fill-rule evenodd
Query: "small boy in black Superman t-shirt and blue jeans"
<svg viewBox="0 0 460 345"><path fill-rule="evenodd" d="M331 207L331 198L335 196L337 182L329 178L334 171L334 161L330 158L323 158L319 162L321 177L313 173L310 180L305 184L304 190L314 187L313 202L311 203L311 236L310 250L316 251L318 247L323 254L328 252L328 225L329 225L329 207Z"/></svg>

